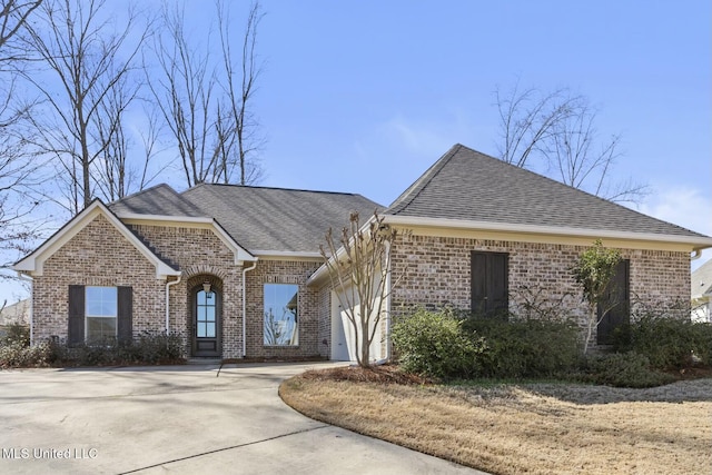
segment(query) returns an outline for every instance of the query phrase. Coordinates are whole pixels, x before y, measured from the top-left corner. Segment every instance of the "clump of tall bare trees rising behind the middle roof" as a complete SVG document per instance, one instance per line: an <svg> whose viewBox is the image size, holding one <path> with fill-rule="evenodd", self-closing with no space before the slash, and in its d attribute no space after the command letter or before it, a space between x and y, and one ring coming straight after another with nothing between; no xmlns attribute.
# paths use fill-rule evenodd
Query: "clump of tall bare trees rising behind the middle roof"
<svg viewBox="0 0 712 475"><path fill-rule="evenodd" d="M243 42L240 73L236 73L229 38L229 13L218 1L221 67L191 43L182 10L164 9L165 36L155 46L159 71L147 73L150 90L180 155L186 184L235 182L259 179L253 159L257 125L249 111L259 76L256 59L258 3L250 8ZM239 83L238 83L239 80ZM236 179L235 170L239 170Z"/></svg>

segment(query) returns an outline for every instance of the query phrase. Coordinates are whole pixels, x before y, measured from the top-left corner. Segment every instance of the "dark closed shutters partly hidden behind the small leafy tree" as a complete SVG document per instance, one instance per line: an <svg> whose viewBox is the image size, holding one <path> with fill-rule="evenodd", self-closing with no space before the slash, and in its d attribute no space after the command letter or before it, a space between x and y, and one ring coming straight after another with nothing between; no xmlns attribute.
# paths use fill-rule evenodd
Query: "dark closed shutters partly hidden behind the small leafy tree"
<svg viewBox="0 0 712 475"><path fill-rule="evenodd" d="M616 327L630 321L631 296L629 289L630 261L621 260L606 289L605 301L599 305L599 345L613 344Z"/></svg>

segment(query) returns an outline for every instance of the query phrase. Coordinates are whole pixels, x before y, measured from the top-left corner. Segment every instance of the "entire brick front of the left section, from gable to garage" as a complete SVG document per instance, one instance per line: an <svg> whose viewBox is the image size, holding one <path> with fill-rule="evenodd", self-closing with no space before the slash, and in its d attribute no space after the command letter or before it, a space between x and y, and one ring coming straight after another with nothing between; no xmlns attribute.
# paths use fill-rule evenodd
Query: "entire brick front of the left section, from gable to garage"
<svg viewBox="0 0 712 475"><path fill-rule="evenodd" d="M243 266L235 264L229 248L210 230L201 228L135 225L138 232L161 256L182 270L181 280L170 287L169 326L185 342L190 355L192 335L191 293L206 280L220 294L222 358L243 356ZM251 265L251 263L247 263ZM247 356L298 358L323 353L319 334L318 291L306 280L319 266L315 261L260 260L247 274ZM263 345L263 285L299 285L299 345ZM43 276L34 279L36 340L68 333L70 285L130 286L134 288L134 335L166 328L166 281L156 269L102 216L95 218L44 263Z"/></svg>

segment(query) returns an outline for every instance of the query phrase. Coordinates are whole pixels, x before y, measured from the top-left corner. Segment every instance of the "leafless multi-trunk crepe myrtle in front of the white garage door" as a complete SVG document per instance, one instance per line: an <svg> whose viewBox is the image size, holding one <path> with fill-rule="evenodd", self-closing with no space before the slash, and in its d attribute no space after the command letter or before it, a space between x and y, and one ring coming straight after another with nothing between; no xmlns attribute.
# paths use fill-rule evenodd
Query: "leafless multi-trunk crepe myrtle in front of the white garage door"
<svg viewBox="0 0 712 475"><path fill-rule="evenodd" d="M356 362L364 368L370 367L370 345L387 311L386 301L403 277L394 279L390 271L390 243L398 232L377 211L363 226L358 212L353 212L340 236L335 238L329 228L326 246L319 246L332 288L354 330Z"/></svg>

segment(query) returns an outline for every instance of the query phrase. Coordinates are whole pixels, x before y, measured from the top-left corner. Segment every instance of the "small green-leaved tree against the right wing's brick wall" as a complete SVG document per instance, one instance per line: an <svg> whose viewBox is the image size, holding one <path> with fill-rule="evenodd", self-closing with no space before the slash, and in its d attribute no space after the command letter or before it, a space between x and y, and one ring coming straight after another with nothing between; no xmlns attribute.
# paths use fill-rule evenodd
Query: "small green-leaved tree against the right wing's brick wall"
<svg viewBox="0 0 712 475"><path fill-rule="evenodd" d="M620 261L621 253L617 249L605 248L601 239L596 239L593 247L584 250L571 268L576 283L583 289L583 300L589 306L584 355L589 350L593 329L619 304L609 286Z"/></svg>

